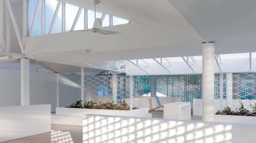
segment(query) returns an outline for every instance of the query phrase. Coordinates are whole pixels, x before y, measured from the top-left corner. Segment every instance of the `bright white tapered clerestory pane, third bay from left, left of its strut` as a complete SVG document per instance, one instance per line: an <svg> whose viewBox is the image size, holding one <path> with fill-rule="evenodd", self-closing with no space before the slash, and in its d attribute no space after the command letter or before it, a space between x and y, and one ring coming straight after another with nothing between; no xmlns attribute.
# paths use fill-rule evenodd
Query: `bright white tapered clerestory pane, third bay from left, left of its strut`
<svg viewBox="0 0 256 143"><path fill-rule="evenodd" d="M75 16L77 14L79 7L67 4L65 5L65 25L66 25L66 30L70 30L73 22L75 20Z"/></svg>

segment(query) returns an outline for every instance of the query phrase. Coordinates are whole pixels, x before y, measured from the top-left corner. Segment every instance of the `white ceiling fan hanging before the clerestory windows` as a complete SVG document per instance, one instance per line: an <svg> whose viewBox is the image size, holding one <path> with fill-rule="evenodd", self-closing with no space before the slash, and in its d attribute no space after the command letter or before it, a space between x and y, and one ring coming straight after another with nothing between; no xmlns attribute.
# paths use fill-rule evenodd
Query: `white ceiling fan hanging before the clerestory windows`
<svg viewBox="0 0 256 143"><path fill-rule="evenodd" d="M92 29L85 29L85 30L77 30L77 31L90 31L90 32L98 32L100 34L120 34L121 32L114 32L114 31L107 31L107 30L101 30L102 28L102 21L100 18L96 18L96 5L100 4L99 0L92 0L92 3L94 4L94 23Z"/></svg>

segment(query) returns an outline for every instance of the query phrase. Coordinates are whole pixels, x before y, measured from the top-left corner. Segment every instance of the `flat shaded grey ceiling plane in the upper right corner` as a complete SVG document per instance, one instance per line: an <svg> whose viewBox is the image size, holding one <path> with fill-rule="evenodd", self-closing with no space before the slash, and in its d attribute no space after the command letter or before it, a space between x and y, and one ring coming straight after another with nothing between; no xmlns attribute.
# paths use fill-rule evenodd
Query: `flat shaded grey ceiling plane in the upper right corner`
<svg viewBox="0 0 256 143"><path fill-rule="evenodd" d="M207 42L215 42L215 52L256 51L255 0L168 1Z"/></svg>

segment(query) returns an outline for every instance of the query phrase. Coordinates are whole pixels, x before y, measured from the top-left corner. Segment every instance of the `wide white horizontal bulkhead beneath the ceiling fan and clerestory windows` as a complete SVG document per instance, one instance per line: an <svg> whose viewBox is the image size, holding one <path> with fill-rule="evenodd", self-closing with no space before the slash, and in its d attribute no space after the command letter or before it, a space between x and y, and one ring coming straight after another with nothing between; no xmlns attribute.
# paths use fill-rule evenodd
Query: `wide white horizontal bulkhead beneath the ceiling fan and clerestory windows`
<svg viewBox="0 0 256 143"><path fill-rule="evenodd" d="M63 64L127 60L142 57L147 59L152 57L162 57L163 54L166 54L164 57L177 57L175 56L176 54L180 53L181 55L184 55L184 51L191 51L193 53L194 50L194 54L201 54L201 41L151 26L145 26L139 23L129 23L103 27L102 29L119 31L122 33L116 35L104 35L93 32L64 32L26 37L24 38L25 54L33 55L71 50L89 50L89 53L86 54L37 58L29 57L32 59ZM170 56L171 54L173 55Z"/></svg>

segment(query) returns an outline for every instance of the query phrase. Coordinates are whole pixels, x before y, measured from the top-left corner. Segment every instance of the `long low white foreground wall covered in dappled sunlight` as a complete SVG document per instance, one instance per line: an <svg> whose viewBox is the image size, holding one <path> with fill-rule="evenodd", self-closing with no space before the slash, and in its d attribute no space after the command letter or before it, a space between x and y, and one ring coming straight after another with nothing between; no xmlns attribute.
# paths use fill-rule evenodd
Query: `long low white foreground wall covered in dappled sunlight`
<svg viewBox="0 0 256 143"><path fill-rule="evenodd" d="M256 125L108 115L83 116L83 143L255 143Z"/></svg>

